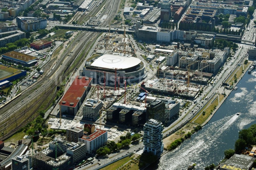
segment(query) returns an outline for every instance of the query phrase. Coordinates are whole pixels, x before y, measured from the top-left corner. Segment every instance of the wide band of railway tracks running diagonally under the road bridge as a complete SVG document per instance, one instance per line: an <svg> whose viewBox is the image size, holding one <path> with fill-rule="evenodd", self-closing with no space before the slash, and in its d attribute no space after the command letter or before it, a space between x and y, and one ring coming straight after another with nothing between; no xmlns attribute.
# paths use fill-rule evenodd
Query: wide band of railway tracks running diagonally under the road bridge
<svg viewBox="0 0 256 170"><path fill-rule="evenodd" d="M108 0L108 2L109 3L107 3L108 5L106 6L106 9L113 10L110 10L108 17L104 20L104 22L101 23L101 26L108 25L107 21L113 19L118 11L120 3L119 0ZM57 85L65 78L65 75L68 75L70 72L72 72L72 70L69 70L69 66L74 63L76 58L81 54L83 50L90 50L91 44L89 43L93 42L95 38L98 37L98 35L100 35L100 32L81 32L74 39L73 43L69 45L67 50L61 55L59 62L56 63L56 66L48 75L44 76L40 81L34 84L34 86L31 86L29 89L22 92L19 97L13 99L0 109L0 131L4 132L6 128L9 128L18 119L24 118L25 114L33 109L34 106L39 102L39 105L31 113L30 117L25 118L22 123L16 125L14 129L2 136L0 140L5 140L12 136L19 128L22 128L28 122L33 120L31 119L32 115L36 113L40 105L47 99L47 96L51 94L53 89L56 89ZM86 49L84 49L85 47ZM69 56L69 54L72 54L72 56ZM82 56L74 67L80 65L82 60L85 58L86 56ZM62 66L60 67L60 65ZM42 95L40 99L37 99L37 96L43 92L45 92L45 94ZM31 105L28 108L25 108L25 110L22 110L22 108L26 106L27 102L31 102ZM34 117L35 116L38 115L34 115Z"/></svg>

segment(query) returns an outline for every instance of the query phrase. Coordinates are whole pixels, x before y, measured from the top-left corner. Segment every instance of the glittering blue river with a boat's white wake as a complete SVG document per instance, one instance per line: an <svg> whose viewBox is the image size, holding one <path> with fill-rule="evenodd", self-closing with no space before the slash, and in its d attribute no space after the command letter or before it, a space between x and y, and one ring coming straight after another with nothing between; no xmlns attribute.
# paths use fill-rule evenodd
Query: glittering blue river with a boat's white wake
<svg viewBox="0 0 256 170"><path fill-rule="evenodd" d="M246 73L211 120L191 139L166 153L150 169L186 170L196 163L195 169L218 164L226 149L234 149L238 132L256 123L256 71ZM239 116L237 112L241 112Z"/></svg>

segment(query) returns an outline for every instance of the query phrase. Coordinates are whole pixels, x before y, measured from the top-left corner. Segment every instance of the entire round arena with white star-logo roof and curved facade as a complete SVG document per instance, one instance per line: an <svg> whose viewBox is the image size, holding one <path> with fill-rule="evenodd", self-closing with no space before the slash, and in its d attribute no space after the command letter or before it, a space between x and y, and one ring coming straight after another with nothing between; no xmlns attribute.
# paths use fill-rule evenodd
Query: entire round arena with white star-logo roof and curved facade
<svg viewBox="0 0 256 170"><path fill-rule="evenodd" d="M87 59L83 75L93 78L94 83L104 83L106 76L106 86L115 81L136 82L146 77L145 63L136 57L103 54Z"/></svg>

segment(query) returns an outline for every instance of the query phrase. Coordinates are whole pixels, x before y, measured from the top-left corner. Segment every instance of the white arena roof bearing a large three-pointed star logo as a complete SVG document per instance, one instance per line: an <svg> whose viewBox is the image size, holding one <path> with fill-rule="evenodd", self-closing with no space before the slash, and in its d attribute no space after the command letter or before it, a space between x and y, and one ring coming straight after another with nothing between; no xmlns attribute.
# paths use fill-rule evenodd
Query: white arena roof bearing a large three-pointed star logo
<svg viewBox="0 0 256 170"><path fill-rule="evenodd" d="M109 69L126 69L140 64L141 60L135 57L123 57L118 55L104 54L97 58L91 66Z"/></svg>

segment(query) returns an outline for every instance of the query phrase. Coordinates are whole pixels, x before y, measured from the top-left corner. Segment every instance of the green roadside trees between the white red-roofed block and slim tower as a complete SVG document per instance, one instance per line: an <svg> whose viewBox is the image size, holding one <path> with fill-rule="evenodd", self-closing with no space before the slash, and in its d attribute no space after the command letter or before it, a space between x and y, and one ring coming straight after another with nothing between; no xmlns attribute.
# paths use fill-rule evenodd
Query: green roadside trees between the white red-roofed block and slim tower
<svg viewBox="0 0 256 170"><path fill-rule="evenodd" d="M96 151L96 154L99 156L105 156L115 151L119 151L122 148L129 147L131 141L136 141L140 139L140 134L135 133L131 136L131 133L127 133L126 136L121 136L120 141L115 143L114 141L110 141L106 144L106 146L99 148Z"/></svg>

